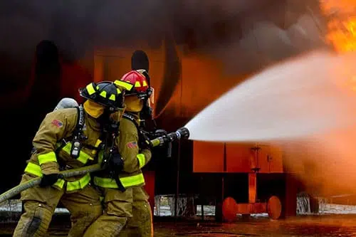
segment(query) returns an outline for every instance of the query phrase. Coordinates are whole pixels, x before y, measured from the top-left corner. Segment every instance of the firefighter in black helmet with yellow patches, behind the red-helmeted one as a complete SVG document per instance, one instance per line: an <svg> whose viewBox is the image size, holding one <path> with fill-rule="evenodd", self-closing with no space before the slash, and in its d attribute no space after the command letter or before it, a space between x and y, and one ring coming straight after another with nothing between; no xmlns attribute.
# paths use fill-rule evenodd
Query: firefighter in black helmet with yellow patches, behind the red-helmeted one
<svg viewBox="0 0 356 237"><path fill-rule="evenodd" d="M125 88L107 81L90 83L80 89L80 95L86 99L83 107L48 113L33 138L35 149L21 183L33 177L42 177L42 181L21 192L24 213L14 236L46 236L59 201L71 214L68 236L83 236L86 228L103 214L100 196L89 185L89 174L58 179L58 172L98 162L103 154L100 147L105 147L105 128L117 127L125 109Z"/></svg>

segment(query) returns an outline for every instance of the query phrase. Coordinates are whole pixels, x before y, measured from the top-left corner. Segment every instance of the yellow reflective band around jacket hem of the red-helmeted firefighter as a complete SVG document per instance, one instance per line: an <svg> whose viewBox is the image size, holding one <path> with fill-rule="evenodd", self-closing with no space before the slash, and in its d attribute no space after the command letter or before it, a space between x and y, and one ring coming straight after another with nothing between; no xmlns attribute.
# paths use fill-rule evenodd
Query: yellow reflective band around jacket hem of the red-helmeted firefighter
<svg viewBox="0 0 356 237"><path fill-rule="evenodd" d="M121 177L120 181L125 188L145 184L145 178L142 173L130 177ZM117 189L115 179L94 177L94 184L103 188Z"/></svg>

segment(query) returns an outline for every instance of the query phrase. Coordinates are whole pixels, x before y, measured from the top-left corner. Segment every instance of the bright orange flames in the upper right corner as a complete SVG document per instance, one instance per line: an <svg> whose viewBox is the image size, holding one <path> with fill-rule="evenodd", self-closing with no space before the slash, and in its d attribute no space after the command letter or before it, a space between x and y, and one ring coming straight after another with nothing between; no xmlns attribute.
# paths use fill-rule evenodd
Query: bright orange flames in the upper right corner
<svg viewBox="0 0 356 237"><path fill-rule="evenodd" d="M337 52L356 50L356 0L320 1L323 13L330 18L326 41Z"/></svg>

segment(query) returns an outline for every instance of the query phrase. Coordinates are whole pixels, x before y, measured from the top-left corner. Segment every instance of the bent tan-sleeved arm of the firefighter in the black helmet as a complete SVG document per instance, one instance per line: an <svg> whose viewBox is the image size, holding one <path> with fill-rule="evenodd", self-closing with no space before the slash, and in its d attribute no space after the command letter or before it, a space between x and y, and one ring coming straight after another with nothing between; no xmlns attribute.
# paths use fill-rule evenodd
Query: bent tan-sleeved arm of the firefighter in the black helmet
<svg viewBox="0 0 356 237"><path fill-rule="evenodd" d="M68 121L61 112L50 112L42 121L35 137L33 147L36 148L38 163L43 174L56 174L59 166L56 157L56 143L66 135Z"/></svg>

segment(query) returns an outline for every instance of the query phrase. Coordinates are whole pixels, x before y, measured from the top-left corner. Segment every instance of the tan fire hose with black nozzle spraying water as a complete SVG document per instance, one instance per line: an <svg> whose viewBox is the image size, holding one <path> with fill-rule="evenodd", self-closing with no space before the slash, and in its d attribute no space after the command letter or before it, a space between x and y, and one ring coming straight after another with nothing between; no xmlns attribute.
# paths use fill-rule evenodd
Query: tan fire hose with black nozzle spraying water
<svg viewBox="0 0 356 237"><path fill-rule="evenodd" d="M187 130L186 127L181 127L179 130L176 132L171 132L167 135L163 135L162 137L157 137L155 139L150 140L150 146L151 147L158 147L162 146L163 144L166 144L167 142L174 142L179 139L188 139L189 138L189 130ZM92 164L86 167L80 167L77 169L68 169L64 170L58 173L58 179L64 179L64 178L69 178L69 177L75 177L83 174L88 174L91 172L98 172L100 170L103 170L101 164ZM16 196L17 194L20 194L21 191L24 191L26 189L29 189L33 186L36 186L41 183L41 177L37 177L31 180L28 180L22 184L19 184L18 186L15 186L12 189L9 189L8 191L4 192L4 194L0 195L0 204L8 199L11 199L11 197Z"/></svg>

